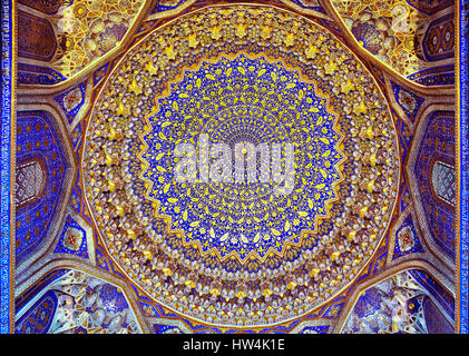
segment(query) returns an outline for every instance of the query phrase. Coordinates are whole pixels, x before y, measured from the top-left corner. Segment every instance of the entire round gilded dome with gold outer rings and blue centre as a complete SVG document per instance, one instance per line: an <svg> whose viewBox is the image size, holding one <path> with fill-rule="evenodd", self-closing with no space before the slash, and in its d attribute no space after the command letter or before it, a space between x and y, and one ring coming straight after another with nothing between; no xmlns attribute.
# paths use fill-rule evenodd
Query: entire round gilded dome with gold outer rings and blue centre
<svg viewBox="0 0 469 356"><path fill-rule="evenodd" d="M255 327L349 286L397 197L392 118L355 55L273 7L211 7L136 43L87 128L110 257L185 317Z"/></svg>

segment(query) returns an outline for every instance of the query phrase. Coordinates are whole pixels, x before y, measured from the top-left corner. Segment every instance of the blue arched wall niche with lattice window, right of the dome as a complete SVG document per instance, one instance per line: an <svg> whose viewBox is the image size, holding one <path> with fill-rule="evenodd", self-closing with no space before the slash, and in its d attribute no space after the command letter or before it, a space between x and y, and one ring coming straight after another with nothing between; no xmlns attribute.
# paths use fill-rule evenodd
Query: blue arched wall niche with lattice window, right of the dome
<svg viewBox="0 0 469 356"><path fill-rule="evenodd" d="M407 167L423 237L451 268L457 244L455 131L455 111L428 110L419 122Z"/></svg>

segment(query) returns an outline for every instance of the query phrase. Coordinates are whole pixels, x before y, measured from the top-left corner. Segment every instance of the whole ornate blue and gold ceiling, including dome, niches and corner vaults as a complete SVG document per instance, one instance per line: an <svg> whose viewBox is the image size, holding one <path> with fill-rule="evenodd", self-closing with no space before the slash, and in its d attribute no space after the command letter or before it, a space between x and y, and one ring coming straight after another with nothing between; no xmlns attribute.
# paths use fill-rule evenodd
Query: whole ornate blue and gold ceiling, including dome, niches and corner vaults
<svg viewBox="0 0 469 356"><path fill-rule="evenodd" d="M17 333L460 330L452 1L16 11Z"/></svg>

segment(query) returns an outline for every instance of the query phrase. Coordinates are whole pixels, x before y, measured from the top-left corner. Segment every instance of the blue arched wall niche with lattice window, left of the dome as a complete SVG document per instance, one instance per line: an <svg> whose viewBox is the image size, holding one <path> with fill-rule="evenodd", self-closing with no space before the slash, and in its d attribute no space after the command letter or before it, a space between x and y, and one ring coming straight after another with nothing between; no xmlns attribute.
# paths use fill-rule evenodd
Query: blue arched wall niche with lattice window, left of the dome
<svg viewBox="0 0 469 356"><path fill-rule="evenodd" d="M68 132L46 105L17 112L16 264L20 284L55 241L77 174Z"/></svg>

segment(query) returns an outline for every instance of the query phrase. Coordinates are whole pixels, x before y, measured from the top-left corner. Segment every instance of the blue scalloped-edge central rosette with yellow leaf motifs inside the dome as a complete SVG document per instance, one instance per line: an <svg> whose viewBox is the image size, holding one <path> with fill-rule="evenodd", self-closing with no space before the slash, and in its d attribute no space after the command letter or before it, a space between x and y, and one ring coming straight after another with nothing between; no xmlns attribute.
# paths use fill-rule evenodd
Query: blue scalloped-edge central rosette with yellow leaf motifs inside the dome
<svg viewBox="0 0 469 356"><path fill-rule="evenodd" d="M202 62L173 83L140 136L158 215L203 253L282 253L328 216L341 136L315 83L264 57Z"/></svg>

